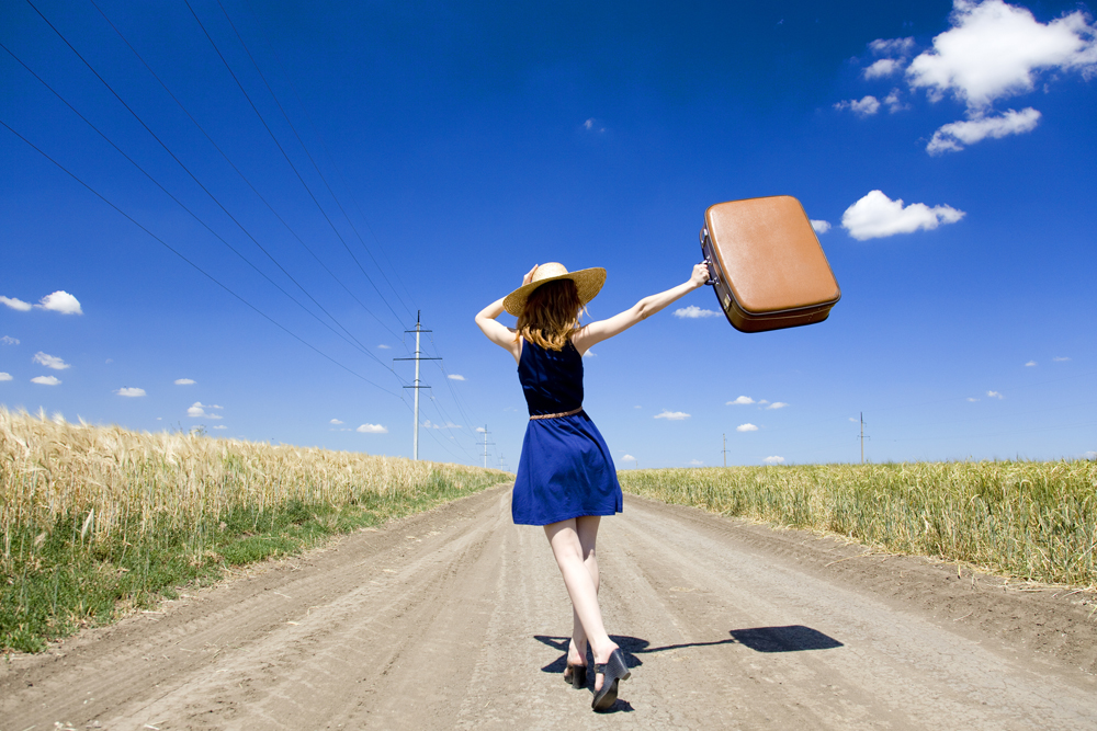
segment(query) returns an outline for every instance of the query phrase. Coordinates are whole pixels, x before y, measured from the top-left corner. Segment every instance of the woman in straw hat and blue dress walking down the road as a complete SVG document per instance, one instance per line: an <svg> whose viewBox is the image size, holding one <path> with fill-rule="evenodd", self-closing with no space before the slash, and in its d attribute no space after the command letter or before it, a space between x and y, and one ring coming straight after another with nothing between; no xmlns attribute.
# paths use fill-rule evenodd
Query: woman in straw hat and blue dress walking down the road
<svg viewBox="0 0 1097 731"><path fill-rule="evenodd" d="M562 264L534 266L522 286L485 307L476 324L488 340L518 362L518 379L530 408L530 423L511 503L514 523L544 526L572 599L572 641L564 681L587 685L587 643L595 658L591 707L606 710L617 700L618 683L630 672L617 643L606 633L598 606L595 541L602 515L621 512L621 486L602 435L583 411L583 354L702 286L704 264L689 281L636 302L608 320L579 324L579 315L606 282L606 270L568 272ZM508 328L496 320L504 310L518 318Z"/></svg>

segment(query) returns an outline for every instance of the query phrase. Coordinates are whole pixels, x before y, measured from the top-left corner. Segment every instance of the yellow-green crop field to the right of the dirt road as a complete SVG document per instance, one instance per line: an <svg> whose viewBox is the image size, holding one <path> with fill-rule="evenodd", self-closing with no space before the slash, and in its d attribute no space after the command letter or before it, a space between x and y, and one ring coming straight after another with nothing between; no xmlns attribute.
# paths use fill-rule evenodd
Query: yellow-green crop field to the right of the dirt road
<svg viewBox="0 0 1097 731"><path fill-rule="evenodd" d="M1020 579L1097 585L1097 462L625 470L637 495Z"/></svg>

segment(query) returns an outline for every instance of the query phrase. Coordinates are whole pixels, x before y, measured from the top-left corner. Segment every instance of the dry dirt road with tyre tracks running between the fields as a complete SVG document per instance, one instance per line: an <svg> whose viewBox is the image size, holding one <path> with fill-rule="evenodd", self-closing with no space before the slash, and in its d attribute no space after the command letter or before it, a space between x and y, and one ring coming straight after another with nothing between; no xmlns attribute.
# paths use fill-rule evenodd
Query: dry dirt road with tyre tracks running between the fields
<svg viewBox="0 0 1097 731"><path fill-rule="evenodd" d="M0 728L1097 729L1093 595L635 498L599 541L632 679L561 679L569 608L497 488L0 665Z"/></svg>

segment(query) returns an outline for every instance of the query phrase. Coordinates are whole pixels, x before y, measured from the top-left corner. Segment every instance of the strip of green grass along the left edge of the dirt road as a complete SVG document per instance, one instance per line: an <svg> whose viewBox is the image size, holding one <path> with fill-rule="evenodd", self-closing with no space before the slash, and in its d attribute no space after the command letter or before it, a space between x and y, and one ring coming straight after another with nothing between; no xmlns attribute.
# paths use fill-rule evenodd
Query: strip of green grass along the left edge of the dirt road
<svg viewBox="0 0 1097 731"><path fill-rule="evenodd" d="M158 526L121 530L92 541L87 515L68 514L50 529L21 526L5 535L12 547L0 573L0 648L26 652L80 627L155 606L186 584L217 580L224 570L296 553L329 537L429 510L498 483L499 472L457 481L432 471L425 484L363 492L343 505L330 502L240 506L199 525L165 516Z"/></svg>

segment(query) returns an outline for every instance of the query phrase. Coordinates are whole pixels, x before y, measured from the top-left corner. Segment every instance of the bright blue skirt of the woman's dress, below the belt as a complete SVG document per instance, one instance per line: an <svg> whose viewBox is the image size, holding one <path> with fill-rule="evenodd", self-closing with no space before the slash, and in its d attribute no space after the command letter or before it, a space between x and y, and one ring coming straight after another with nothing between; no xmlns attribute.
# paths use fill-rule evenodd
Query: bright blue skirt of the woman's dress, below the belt
<svg viewBox="0 0 1097 731"><path fill-rule="evenodd" d="M519 525L613 515L621 486L606 441L585 412L531 419L522 442L511 512Z"/></svg>

